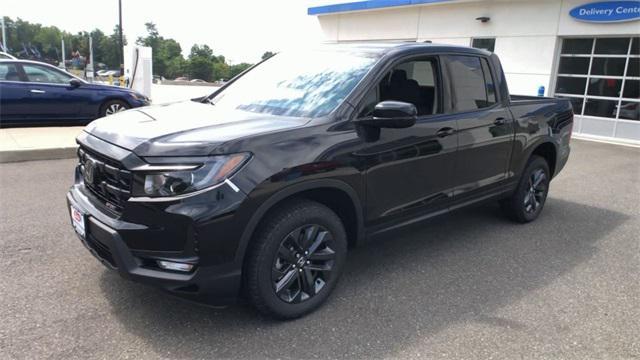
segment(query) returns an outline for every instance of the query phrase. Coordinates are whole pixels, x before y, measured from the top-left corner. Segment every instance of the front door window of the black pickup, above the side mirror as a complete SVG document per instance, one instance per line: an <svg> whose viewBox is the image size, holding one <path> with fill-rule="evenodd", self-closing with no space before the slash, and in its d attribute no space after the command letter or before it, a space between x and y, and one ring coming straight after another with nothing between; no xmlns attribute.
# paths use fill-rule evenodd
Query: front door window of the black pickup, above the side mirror
<svg viewBox="0 0 640 360"><path fill-rule="evenodd" d="M369 90L359 116L371 115L375 105L385 100L412 103L419 116L440 113L438 74L435 58L407 61L395 66Z"/></svg>

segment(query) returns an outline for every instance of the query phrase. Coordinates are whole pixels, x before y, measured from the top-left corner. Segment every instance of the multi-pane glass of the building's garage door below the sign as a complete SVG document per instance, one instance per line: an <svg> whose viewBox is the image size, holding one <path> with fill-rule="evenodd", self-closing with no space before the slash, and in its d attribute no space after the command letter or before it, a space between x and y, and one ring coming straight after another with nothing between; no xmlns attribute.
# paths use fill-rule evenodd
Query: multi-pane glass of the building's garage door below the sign
<svg viewBox="0 0 640 360"><path fill-rule="evenodd" d="M555 95L576 115L640 120L640 37L563 39Z"/></svg>

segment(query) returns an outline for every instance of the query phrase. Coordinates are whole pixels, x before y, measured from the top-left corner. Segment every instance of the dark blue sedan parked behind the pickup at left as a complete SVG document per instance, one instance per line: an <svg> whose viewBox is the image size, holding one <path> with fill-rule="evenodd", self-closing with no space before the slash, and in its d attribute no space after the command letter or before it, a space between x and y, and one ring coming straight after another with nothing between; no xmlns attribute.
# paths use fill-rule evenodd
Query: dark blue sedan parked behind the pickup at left
<svg viewBox="0 0 640 360"><path fill-rule="evenodd" d="M0 60L0 123L86 123L149 105L131 89L88 83L49 64Z"/></svg>

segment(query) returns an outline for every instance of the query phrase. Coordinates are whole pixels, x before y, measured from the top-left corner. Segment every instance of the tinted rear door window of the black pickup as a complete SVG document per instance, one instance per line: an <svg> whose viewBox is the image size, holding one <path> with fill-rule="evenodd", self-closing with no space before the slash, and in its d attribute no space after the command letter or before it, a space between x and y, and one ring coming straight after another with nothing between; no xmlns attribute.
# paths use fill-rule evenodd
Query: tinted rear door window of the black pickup
<svg viewBox="0 0 640 360"><path fill-rule="evenodd" d="M476 56L447 56L456 112L473 111L496 103L496 92L489 65Z"/></svg>

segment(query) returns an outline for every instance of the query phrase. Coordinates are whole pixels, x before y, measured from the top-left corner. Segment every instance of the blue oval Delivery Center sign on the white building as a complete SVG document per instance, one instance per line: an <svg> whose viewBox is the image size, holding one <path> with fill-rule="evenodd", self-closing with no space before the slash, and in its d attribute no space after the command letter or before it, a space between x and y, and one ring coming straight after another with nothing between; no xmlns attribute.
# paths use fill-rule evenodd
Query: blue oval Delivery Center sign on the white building
<svg viewBox="0 0 640 360"><path fill-rule="evenodd" d="M569 12L576 20L622 22L640 19L640 1L602 1L576 6Z"/></svg>

